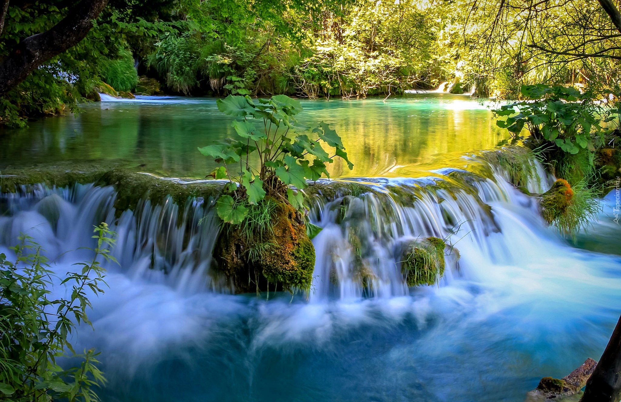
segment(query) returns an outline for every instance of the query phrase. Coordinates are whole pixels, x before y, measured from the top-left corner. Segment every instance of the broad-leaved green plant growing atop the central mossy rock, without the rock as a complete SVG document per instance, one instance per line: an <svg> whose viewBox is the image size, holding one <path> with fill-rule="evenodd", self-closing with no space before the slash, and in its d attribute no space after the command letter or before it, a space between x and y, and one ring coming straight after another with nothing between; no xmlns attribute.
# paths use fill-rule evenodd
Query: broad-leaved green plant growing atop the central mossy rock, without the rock
<svg viewBox="0 0 621 402"><path fill-rule="evenodd" d="M231 95L219 99L217 105L221 112L235 117L232 127L239 138L227 138L199 151L222 164L212 177L229 180L216 206L226 223L242 223L248 207L266 195L301 210L299 190L307 187L307 180L330 177L326 167L336 157L353 168L340 136L327 123L320 122L311 130L297 121L302 106L295 99L276 95L255 103L249 96ZM334 154L330 156L322 144L334 148Z"/></svg>

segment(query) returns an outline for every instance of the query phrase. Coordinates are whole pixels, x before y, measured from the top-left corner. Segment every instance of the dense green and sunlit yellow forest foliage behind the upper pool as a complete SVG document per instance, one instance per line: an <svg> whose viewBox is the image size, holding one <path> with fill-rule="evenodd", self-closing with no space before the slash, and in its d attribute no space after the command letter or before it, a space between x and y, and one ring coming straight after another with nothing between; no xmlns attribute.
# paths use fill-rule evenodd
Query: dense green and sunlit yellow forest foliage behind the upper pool
<svg viewBox="0 0 621 402"><path fill-rule="evenodd" d="M0 58L78 3L4 1ZM521 84L614 87L619 37L593 0L111 0L78 45L0 97L0 118L24 125L97 92L359 97L448 82L515 99Z"/></svg>

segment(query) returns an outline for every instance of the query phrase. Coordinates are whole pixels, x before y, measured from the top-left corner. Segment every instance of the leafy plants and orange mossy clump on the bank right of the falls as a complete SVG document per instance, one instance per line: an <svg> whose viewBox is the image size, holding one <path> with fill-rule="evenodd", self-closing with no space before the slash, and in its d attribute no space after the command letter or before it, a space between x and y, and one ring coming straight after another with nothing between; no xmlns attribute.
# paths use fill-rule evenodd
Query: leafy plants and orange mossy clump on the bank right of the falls
<svg viewBox="0 0 621 402"><path fill-rule="evenodd" d="M535 156L558 178L542 195L543 218L574 235L599 211L596 198L619 177L619 92L590 87L522 86L523 101L493 112L514 140L527 139ZM602 101L603 99L603 101ZM522 132L527 135L522 136Z"/></svg>

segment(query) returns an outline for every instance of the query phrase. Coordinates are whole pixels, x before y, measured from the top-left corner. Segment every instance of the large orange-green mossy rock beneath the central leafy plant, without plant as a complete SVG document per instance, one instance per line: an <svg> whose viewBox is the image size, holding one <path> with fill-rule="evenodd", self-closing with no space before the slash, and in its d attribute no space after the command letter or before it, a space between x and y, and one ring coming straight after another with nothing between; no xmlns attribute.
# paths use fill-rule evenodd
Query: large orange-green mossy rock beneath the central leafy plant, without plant
<svg viewBox="0 0 621 402"><path fill-rule="evenodd" d="M232 280L237 293L309 290L315 248L306 234L304 217L289 203L271 197L262 203L274 205L270 228L248 230L252 223L247 221L225 225L214 248L219 269Z"/></svg>

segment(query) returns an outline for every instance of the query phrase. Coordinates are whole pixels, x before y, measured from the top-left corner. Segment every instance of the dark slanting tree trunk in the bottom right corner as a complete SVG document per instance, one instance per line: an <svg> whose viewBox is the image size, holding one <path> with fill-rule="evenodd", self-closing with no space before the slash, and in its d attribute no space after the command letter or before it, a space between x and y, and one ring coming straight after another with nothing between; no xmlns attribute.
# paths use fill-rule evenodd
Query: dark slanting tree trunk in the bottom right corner
<svg viewBox="0 0 621 402"><path fill-rule="evenodd" d="M581 402L619 402L621 398L621 318L595 371L586 383Z"/></svg>

